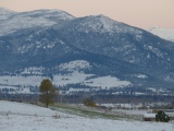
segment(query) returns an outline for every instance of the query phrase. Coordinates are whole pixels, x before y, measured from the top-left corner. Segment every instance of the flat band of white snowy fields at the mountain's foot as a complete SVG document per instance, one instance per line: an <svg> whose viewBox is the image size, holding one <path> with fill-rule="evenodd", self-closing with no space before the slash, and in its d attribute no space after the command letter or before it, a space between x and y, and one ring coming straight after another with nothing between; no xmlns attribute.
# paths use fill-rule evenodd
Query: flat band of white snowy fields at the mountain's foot
<svg viewBox="0 0 174 131"><path fill-rule="evenodd" d="M108 75L101 78L89 79L90 76L95 76L95 74L85 74L80 72L73 72L67 75L53 75L52 83L57 86L63 86L67 84L82 84L82 85L89 85L96 87L124 87L130 85L128 81L121 81L117 78ZM44 79L48 79L41 75L30 75L30 76L10 76L10 75L2 75L0 76L0 84L4 85L22 85L22 86L39 86L40 82ZM89 79L89 80L86 80ZM3 86L0 86L1 88Z"/></svg>

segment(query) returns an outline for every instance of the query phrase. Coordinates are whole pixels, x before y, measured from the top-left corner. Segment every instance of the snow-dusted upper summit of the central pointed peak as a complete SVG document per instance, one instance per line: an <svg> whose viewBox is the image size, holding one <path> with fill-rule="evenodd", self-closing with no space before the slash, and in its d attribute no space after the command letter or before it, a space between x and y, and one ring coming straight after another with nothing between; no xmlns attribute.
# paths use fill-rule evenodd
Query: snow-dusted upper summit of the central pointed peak
<svg viewBox="0 0 174 131"><path fill-rule="evenodd" d="M113 21L104 15L90 15L76 19L72 24L75 25L73 29L85 33L141 33L139 29L126 26L124 23Z"/></svg>

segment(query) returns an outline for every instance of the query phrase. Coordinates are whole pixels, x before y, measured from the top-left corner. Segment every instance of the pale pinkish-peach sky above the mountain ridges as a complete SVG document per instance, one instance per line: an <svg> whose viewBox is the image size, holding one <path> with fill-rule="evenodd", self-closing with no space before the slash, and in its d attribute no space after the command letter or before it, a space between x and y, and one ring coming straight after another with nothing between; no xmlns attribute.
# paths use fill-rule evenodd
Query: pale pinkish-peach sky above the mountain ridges
<svg viewBox="0 0 174 131"><path fill-rule="evenodd" d="M59 9L74 16L103 14L133 26L174 28L174 0L0 0L14 11Z"/></svg>

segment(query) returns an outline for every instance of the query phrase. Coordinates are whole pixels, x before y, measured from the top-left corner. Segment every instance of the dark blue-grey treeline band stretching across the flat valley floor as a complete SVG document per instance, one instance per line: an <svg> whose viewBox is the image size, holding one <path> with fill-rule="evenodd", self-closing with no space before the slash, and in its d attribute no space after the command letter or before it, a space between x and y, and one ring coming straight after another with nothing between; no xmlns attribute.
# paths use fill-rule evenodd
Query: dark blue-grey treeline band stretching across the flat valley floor
<svg viewBox="0 0 174 131"><path fill-rule="evenodd" d="M82 104L85 98L92 98L97 104L148 104L148 103L172 103L174 96L163 95L58 95L57 103ZM38 103L38 94L0 94L2 100Z"/></svg>

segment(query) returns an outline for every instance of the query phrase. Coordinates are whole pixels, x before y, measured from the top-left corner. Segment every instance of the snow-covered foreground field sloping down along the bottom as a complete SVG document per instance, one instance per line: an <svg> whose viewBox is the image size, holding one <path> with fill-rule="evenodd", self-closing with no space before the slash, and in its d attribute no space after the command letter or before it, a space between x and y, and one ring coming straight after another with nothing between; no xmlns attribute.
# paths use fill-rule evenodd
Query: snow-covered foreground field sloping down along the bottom
<svg viewBox="0 0 174 131"><path fill-rule="evenodd" d="M57 117L54 117L57 116ZM174 131L174 124L91 119L34 105L0 102L0 131Z"/></svg>

